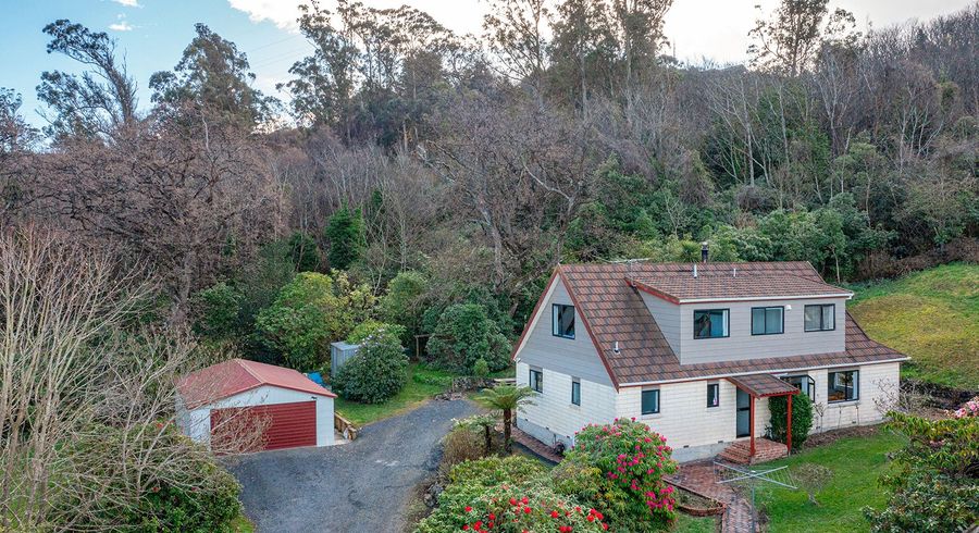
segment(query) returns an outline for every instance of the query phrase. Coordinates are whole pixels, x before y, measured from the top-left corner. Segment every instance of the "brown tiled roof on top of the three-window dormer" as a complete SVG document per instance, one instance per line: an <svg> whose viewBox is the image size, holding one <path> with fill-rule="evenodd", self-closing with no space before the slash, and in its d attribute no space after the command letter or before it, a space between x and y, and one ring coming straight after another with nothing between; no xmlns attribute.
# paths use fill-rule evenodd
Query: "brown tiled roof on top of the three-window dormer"
<svg viewBox="0 0 979 533"><path fill-rule="evenodd" d="M738 272L733 268L727 272L698 272L697 277L694 277L692 270L689 270L684 274L635 275L630 281L639 288L674 303L696 300L850 296L853 294L850 290L823 283L821 280L811 280L796 274L753 273L751 270Z"/></svg>

